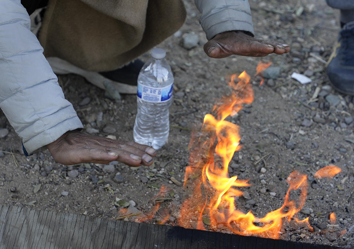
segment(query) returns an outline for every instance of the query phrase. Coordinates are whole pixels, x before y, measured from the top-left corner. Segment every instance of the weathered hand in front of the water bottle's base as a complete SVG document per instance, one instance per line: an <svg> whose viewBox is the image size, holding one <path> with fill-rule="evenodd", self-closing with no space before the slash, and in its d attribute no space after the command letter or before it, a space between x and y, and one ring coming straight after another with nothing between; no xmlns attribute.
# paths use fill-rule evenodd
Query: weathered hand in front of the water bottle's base
<svg viewBox="0 0 354 249"><path fill-rule="evenodd" d="M65 165L120 161L132 167L141 164L150 166L156 154L156 150L148 145L96 137L79 131L64 133L47 148L55 161Z"/></svg>

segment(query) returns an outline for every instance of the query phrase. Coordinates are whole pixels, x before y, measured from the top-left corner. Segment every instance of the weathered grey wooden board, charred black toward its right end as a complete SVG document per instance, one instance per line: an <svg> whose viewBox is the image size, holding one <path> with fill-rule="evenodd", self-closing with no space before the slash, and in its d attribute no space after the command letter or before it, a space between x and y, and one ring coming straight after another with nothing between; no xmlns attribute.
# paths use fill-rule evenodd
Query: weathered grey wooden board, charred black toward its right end
<svg viewBox="0 0 354 249"><path fill-rule="evenodd" d="M338 249L339 247L0 205L0 248Z"/></svg>

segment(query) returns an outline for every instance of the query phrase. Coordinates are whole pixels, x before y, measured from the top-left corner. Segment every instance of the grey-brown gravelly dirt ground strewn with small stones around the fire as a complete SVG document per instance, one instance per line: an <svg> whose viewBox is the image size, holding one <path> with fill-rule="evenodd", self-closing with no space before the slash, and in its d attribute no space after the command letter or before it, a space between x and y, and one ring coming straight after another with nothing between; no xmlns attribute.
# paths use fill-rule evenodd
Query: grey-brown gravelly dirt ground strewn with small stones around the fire
<svg viewBox="0 0 354 249"><path fill-rule="evenodd" d="M252 184L240 188L249 195L240 197L236 206L244 212L252 210L258 217L280 208L289 187L286 178L297 170L308 175L309 186L299 218L309 216L314 232L284 225L279 238L353 248L354 122L350 117L354 117L354 100L329 86L321 61L329 58L337 39L339 12L324 0L250 0L250 4L256 37L278 40L292 48L289 54L263 58L279 66L280 74L265 79L261 87L260 79L252 78L253 103L228 119L241 127L243 146L230 163L230 176L250 179ZM166 224L177 224L179 207L191 192L188 184L183 189L170 178L184 179L191 129L200 129L205 114L229 94L227 76L244 70L255 75L260 60L207 57L199 12L192 0L185 0L185 6L188 16L180 32L160 45L166 49L175 75L175 97L170 108L169 141L158 151L153 166L130 168L119 162L63 166L47 150L26 158L21 139L0 112L0 129L9 131L0 138L1 204L112 219L121 216L123 207L131 214L148 214L154 206L153 197L166 186L169 195L160 210L167 207L171 214ZM181 40L190 32L199 35L199 44L187 50ZM141 58L146 60L148 54ZM291 79L293 72L309 76L312 82L302 85ZM92 133L95 128L96 135L133 139L136 96L122 95L121 101L112 101L80 76L59 75L58 79L85 126L84 132ZM316 88L320 92L313 98ZM87 104L81 102L85 98ZM314 173L328 164L335 164L342 172L333 179L315 179ZM337 218L335 225L329 223L332 212ZM159 223L161 216L157 213L147 222Z"/></svg>

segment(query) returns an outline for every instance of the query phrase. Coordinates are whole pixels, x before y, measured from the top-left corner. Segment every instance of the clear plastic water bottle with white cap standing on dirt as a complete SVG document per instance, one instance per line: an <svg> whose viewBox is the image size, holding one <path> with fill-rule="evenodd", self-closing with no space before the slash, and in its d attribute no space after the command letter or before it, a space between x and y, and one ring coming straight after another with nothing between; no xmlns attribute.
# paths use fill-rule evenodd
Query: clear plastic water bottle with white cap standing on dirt
<svg viewBox="0 0 354 249"><path fill-rule="evenodd" d="M154 48L138 76L138 112L134 141L160 149L169 137L169 107L172 103L173 75L166 51Z"/></svg>

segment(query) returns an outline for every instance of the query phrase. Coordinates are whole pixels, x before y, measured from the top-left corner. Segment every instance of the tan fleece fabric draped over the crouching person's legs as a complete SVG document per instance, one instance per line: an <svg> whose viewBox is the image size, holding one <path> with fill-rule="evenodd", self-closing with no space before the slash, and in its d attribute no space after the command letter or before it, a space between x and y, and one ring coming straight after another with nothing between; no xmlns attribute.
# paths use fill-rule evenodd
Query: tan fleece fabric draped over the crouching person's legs
<svg viewBox="0 0 354 249"><path fill-rule="evenodd" d="M39 41L46 57L114 70L175 33L185 15L181 0L49 0Z"/></svg>

